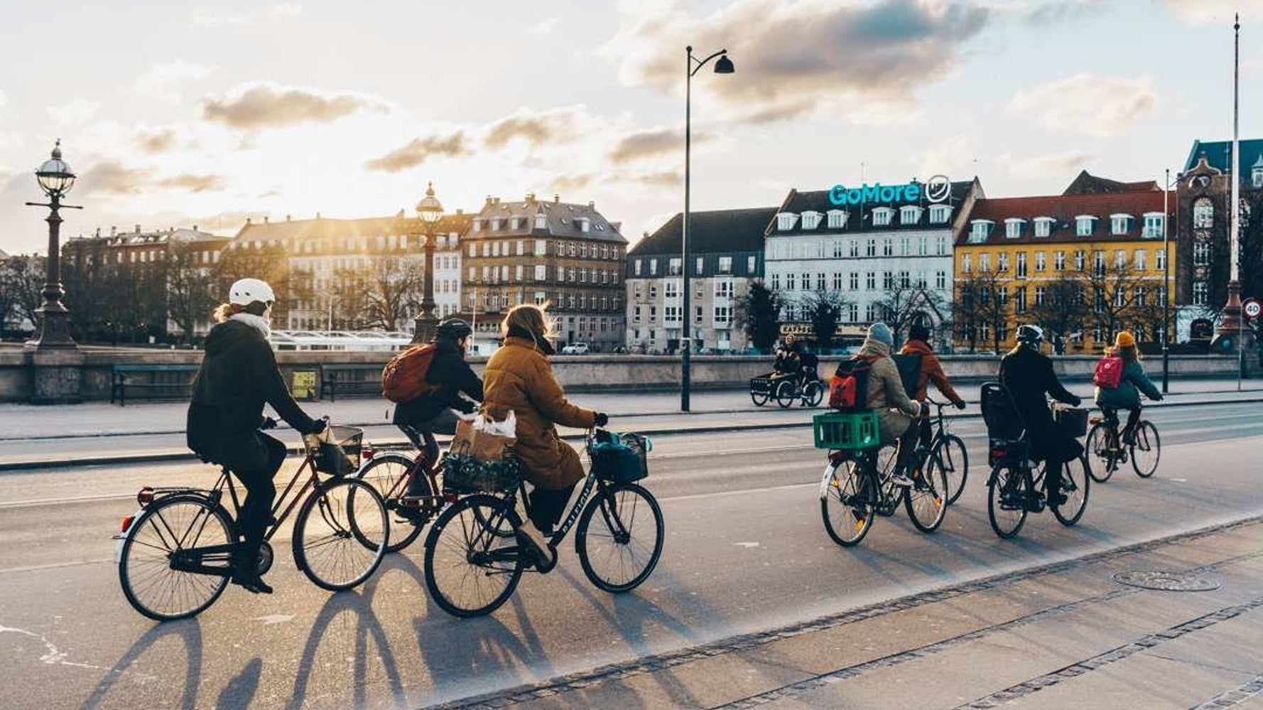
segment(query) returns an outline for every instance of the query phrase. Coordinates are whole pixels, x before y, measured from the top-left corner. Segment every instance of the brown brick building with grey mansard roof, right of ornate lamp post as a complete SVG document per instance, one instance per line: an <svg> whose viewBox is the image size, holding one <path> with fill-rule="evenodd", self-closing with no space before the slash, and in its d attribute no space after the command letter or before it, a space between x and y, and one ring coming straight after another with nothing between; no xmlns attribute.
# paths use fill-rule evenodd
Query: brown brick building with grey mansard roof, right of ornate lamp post
<svg viewBox="0 0 1263 710"><path fill-rule="evenodd" d="M623 345L626 239L595 203L488 197L461 251L465 311L477 340L499 337L509 308L548 303L560 346L586 342L608 352Z"/></svg>

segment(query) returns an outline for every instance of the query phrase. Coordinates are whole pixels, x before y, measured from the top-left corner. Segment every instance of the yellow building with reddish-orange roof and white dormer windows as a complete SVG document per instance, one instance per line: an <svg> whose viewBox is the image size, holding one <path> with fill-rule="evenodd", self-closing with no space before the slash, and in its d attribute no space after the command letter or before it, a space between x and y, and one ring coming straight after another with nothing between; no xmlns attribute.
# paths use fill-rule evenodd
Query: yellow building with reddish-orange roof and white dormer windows
<svg viewBox="0 0 1263 710"><path fill-rule="evenodd" d="M957 352L1003 352L1023 323L1066 354L1100 352L1120 330L1142 347L1161 342L1166 260L1176 253L1173 229L1163 248L1162 191L1086 173L1076 190L1091 192L974 203L954 246Z"/></svg>

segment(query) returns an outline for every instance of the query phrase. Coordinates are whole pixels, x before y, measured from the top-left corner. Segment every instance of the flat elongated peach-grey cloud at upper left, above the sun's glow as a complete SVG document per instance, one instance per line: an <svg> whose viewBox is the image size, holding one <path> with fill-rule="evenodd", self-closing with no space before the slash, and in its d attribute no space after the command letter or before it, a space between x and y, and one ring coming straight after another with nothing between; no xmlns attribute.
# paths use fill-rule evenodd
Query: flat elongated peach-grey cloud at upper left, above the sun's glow
<svg viewBox="0 0 1263 710"><path fill-rule="evenodd" d="M202 116L239 130L289 126L304 123L333 123L368 109L386 106L362 95L326 93L314 88L272 83L239 86L229 96L202 102Z"/></svg>

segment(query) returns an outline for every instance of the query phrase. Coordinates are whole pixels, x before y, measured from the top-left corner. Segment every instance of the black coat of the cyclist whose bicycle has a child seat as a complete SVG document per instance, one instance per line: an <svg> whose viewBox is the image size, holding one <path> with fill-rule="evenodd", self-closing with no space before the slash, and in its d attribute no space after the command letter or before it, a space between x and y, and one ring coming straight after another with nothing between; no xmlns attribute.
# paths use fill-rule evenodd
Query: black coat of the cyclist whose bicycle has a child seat
<svg viewBox="0 0 1263 710"><path fill-rule="evenodd" d="M1022 414L1031 438L1032 457L1065 462L1082 455L1084 447L1075 437L1057 428L1052 421L1052 411L1048 409L1046 394L1075 407L1082 402L1057 380L1052 360L1037 350L1019 345L1000 360L1000 383L1009 389L1013 403Z"/></svg>

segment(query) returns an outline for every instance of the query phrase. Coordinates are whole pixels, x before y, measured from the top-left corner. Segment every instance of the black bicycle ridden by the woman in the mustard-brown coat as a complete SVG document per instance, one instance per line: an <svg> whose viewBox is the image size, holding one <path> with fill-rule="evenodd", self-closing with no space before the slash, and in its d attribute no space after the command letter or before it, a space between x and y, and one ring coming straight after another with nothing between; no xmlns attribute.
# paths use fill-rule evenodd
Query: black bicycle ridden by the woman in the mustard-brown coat
<svg viewBox="0 0 1263 710"><path fill-rule="evenodd" d="M599 440L613 436L590 430L585 446L589 459L594 459ZM512 481L506 488L460 498L438 515L426 537L426 587L434 603L453 617L480 617L499 609L533 560L517 541L523 524L517 509L519 496L528 515L530 510L525 484ZM644 509L652 522L644 519ZM647 524L633 529L638 518ZM554 555L576 522L575 552L584 575L604 591L635 589L662 556L664 527L653 494L639 484L611 479L596 465L589 466L578 498L548 541ZM605 570L605 563L618 569ZM552 569L536 571L547 574Z"/></svg>

